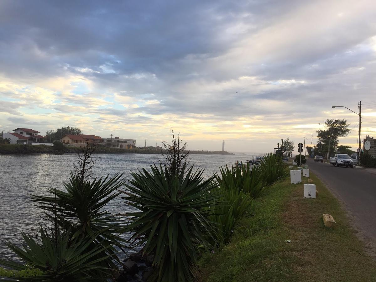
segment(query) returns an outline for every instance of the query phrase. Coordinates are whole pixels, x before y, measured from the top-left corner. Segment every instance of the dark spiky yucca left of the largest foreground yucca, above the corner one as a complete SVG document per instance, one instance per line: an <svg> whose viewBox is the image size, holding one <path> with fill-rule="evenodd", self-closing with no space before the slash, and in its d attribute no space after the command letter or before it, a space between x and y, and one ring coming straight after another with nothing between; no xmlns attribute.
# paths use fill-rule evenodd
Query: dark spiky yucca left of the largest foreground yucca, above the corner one
<svg viewBox="0 0 376 282"><path fill-rule="evenodd" d="M45 211L47 218L56 220L62 230L69 231L71 240L92 240L89 248L102 248L98 258L107 259L100 260L99 265L115 268L112 260L120 261L115 247L122 246L124 240L118 235L125 224L120 216L106 211L105 206L120 194L117 190L123 185L122 175L82 181L79 175L71 173L70 182L64 182L65 191L50 188L47 191L51 196L31 195L31 201Z"/></svg>

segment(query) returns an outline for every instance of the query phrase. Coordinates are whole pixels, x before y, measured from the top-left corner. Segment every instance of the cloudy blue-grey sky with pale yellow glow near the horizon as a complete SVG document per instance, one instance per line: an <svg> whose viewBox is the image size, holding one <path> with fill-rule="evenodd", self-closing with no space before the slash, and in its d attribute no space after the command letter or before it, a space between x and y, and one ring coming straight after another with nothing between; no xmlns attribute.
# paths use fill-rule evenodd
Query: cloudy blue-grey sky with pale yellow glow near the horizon
<svg viewBox="0 0 376 282"><path fill-rule="evenodd" d="M271 152L376 138L376 5L369 1L0 2L0 130L80 127L191 150ZM303 138L306 137L307 139ZM297 153L297 148L294 151Z"/></svg>

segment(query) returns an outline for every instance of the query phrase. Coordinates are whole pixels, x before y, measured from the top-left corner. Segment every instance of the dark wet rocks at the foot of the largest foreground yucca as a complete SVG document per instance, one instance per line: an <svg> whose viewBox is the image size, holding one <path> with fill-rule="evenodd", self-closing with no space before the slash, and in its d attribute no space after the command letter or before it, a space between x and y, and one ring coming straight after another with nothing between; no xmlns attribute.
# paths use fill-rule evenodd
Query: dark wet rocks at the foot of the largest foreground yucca
<svg viewBox="0 0 376 282"><path fill-rule="evenodd" d="M143 250L132 253L123 260L123 270L120 271L118 282L148 281L153 272L154 256L145 254Z"/></svg>

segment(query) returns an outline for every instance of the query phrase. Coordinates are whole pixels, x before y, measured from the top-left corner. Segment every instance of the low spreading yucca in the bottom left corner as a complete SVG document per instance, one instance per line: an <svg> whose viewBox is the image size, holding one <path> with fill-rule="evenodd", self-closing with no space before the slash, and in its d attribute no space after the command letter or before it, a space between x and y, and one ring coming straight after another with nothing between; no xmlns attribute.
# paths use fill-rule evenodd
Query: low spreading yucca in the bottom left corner
<svg viewBox="0 0 376 282"><path fill-rule="evenodd" d="M3 276L25 282L107 281L111 276L112 270L98 265L108 256L96 259L103 249L99 245L89 248L92 244L91 240L82 238L71 241L69 232L50 236L43 227L40 227L39 234L40 243L22 232L23 248L11 242L6 243L6 246L21 258L23 263L0 259L0 264L16 270L4 271ZM94 237L97 235L99 234L93 234Z"/></svg>

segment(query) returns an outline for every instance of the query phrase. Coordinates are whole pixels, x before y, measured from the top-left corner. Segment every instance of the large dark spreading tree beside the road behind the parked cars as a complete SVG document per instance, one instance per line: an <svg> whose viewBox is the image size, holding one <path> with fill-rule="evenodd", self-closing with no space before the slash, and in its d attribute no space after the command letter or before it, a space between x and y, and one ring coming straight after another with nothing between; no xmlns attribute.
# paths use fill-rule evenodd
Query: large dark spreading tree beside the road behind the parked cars
<svg viewBox="0 0 376 282"><path fill-rule="evenodd" d="M329 160L331 148L337 147L338 138L350 133L347 120L327 119L325 121L326 130L317 130L318 142L327 147L326 158ZM333 151L334 152L334 151Z"/></svg>

